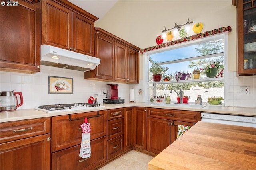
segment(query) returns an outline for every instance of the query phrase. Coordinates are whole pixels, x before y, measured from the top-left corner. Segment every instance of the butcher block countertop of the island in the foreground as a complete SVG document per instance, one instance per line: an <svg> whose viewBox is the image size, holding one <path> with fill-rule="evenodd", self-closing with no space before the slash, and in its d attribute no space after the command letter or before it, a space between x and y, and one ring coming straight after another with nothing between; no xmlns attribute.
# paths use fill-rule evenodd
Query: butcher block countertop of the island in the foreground
<svg viewBox="0 0 256 170"><path fill-rule="evenodd" d="M199 121L148 163L149 170L256 169L256 128Z"/></svg>

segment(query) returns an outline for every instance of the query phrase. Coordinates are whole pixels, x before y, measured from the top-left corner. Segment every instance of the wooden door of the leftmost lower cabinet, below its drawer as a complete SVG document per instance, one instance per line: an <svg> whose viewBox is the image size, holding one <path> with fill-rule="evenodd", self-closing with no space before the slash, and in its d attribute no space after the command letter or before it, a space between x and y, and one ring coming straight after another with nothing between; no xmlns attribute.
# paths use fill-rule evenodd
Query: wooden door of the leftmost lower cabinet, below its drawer
<svg viewBox="0 0 256 170"><path fill-rule="evenodd" d="M50 134L0 144L1 170L50 170Z"/></svg>

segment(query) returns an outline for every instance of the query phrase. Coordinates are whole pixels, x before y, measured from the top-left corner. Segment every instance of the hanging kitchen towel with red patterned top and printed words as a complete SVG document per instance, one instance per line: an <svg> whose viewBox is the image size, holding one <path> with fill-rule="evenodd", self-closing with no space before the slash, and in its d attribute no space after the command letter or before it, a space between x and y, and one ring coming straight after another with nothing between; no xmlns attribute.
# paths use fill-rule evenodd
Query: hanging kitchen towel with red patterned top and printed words
<svg viewBox="0 0 256 170"><path fill-rule="evenodd" d="M82 158L88 158L91 156L91 143L90 143L90 131L91 125L87 123L87 118L84 118L84 123L80 125L83 131L81 148L79 156Z"/></svg>

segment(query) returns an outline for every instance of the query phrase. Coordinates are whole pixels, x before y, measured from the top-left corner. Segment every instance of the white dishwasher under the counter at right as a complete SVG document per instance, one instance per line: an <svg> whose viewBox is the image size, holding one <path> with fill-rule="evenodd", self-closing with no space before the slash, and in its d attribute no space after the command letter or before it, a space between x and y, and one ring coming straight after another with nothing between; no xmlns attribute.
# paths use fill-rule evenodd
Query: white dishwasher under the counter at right
<svg viewBox="0 0 256 170"><path fill-rule="evenodd" d="M256 117L224 115L224 114L218 114L218 113L201 113L201 118L202 118L202 121L205 121L205 122L256 128Z"/></svg>

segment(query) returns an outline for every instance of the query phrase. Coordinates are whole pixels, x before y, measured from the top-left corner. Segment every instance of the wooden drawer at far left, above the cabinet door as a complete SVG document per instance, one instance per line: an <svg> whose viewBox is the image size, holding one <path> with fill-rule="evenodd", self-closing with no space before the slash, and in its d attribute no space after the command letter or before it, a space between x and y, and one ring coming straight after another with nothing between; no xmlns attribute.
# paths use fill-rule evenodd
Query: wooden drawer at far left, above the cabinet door
<svg viewBox="0 0 256 170"><path fill-rule="evenodd" d="M0 143L50 133L51 118L0 123Z"/></svg>

